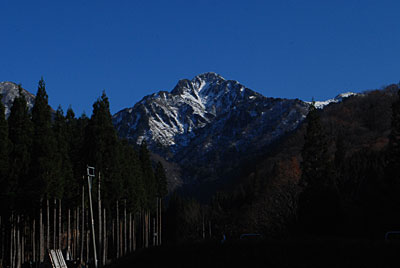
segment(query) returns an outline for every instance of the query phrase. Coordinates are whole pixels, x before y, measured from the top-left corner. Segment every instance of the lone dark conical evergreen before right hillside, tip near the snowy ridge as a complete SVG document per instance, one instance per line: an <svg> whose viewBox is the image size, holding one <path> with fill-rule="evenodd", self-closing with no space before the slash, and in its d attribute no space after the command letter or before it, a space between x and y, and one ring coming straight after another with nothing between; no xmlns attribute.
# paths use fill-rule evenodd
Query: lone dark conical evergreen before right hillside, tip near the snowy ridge
<svg viewBox="0 0 400 268"><path fill-rule="evenodd" d="M332 161L328 154L328 139L319 112L311 104L302 149L301 185L298 219L300 228L308 233L334 234L338 231L341 209L333 180Z"/></svg>

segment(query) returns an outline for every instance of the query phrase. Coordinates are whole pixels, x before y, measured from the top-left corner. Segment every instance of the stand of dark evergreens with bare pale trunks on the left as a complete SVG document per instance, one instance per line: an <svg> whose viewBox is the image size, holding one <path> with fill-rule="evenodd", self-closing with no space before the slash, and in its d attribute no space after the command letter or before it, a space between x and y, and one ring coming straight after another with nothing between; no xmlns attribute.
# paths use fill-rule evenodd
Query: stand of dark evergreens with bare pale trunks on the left
<svg viewBox="0 0 400 268"><path fill-rule="evenodd" d="M99 264L160 245L165 170L118 138L105 92L90 118L53 111L43 78L31 111L21 86L8 118L0 102L0 266L39 265L48 249L93 262L87 166Z"/></svg>

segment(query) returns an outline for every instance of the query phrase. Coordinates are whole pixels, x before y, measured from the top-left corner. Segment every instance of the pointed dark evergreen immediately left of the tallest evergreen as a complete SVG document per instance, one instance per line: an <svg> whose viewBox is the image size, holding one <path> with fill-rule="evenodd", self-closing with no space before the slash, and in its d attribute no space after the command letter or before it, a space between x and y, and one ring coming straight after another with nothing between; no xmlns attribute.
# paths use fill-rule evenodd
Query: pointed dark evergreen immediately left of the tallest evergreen
<svg viewBox="0 0 400 268"><path fill-rule="evenodd" d="M32 197L34 185L30 181L29 167L31 162L32 124L28 107L21 86L19 95L14 99L8 117L8 137L11 142L9 154L9 176L4 191L8 193L8 205L16 197Z"/></svg>

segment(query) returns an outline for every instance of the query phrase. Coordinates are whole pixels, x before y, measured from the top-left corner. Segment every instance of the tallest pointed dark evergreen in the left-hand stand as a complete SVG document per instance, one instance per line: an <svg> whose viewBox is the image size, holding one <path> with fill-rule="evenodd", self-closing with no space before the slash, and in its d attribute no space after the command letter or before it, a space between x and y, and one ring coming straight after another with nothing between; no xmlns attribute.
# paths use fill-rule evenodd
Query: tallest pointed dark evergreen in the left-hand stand
<svg viewBox="0 0 400 268"><path fill-rule="evenodd" d="M48 104L45 82L39 81L35 104L32 108L33 142L31 176L35 182L37 198L55 197L57 189L50 188L57 176L55 165L56 142L51 126L51 108Z"/></svg>

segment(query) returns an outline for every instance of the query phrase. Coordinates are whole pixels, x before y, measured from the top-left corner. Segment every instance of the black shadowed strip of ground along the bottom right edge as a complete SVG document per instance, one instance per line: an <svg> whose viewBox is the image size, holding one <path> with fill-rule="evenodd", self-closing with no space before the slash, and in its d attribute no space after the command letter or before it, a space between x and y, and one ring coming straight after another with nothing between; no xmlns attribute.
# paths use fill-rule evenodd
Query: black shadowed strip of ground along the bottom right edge
<svg viewBox="0 0 400 268"><path fill-rule="evenodd" d="M138 251L110 268L398 267L400 243L352 239L205 242Z"/></svg>

